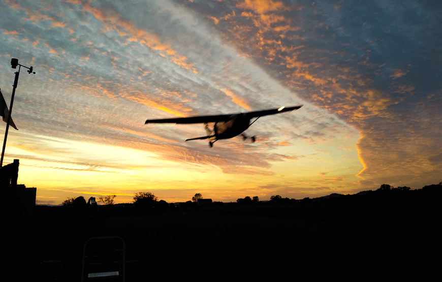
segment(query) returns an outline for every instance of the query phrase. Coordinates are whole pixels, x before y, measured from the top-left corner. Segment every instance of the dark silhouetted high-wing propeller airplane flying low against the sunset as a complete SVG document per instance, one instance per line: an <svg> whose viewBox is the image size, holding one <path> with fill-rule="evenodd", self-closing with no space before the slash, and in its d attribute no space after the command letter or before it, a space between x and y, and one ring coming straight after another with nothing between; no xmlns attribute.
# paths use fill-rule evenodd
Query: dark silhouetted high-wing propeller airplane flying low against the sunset
<svg viewBox="0 0 442 282"><path fill-rule="evenodd" d="M220 139L229 139L241 134L243 140L247 137L243 132L248 129L258 118L278 114L283 112L289 112L301 108L300 106L294 107L280 107L278 109L270 109L263 111L254 111L247 113L237 113L237 114L222 114L222 115L204 115L204 116L191 116L191 117L177 117L177 118L164 118L164 119L148 119L144 124L147 123L204 123L204 129L206 130L207 136L186 139L197 140L197 139L209 139L209 146L212 147L213 143ZM256 119L250 123L252 118ZM214 122L213 130L209 129L209 122ZM252 142L255 142L255 136L250 137Z"/></svg>

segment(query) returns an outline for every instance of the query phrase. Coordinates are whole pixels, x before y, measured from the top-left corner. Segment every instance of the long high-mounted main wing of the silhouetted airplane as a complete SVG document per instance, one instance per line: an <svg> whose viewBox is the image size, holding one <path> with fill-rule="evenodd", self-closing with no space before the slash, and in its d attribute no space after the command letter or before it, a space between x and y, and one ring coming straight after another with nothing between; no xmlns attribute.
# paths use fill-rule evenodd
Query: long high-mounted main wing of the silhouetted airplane
<svg viewBox="0 0 442 282"><path fill-rule="evenodd" d="M278 114L283 112L289 112L301 108L301 106L295 107L280 107L278 109L254 111L247 113L238 114L222 114L222 115L200 115L191 117L175 117L175 118L163 118L163 119L148 119L144 124L147 123L206 123L206 122L217 122L217 121L227 121L235 117L235 115L246 115L249 118L259 117L264 115Z"/></svg>

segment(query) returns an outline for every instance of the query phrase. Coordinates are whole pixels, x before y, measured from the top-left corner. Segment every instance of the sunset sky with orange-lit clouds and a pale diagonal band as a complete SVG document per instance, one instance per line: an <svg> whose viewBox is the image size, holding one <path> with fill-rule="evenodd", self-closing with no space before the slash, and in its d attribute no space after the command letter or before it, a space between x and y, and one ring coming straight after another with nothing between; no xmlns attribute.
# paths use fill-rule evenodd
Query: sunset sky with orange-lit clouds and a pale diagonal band
<svg viewBox="0 0 442 282"><path fill-rule="evenodd" d="M4 164L38 204L355 194L442 180L437 1L0 0ZM146 119L303 105L241 137ZM6 123L2 122L2 129Z"/></svg>

